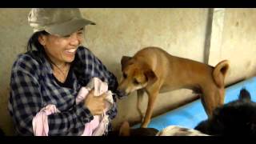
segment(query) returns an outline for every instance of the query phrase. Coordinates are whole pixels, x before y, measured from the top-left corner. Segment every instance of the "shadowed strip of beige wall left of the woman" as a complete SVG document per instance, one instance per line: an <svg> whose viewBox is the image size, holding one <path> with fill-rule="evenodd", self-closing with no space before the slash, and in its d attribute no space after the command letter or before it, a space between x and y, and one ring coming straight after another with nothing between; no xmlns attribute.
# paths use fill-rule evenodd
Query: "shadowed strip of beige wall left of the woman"
<svg viewBox="0 0 256 144"><path fill-rule="evenodd" d="M0 9L0 127L12 135L13 125L7 111L10 70L17 54L26 50L32 30L27 24L29 9Z"/></svg>

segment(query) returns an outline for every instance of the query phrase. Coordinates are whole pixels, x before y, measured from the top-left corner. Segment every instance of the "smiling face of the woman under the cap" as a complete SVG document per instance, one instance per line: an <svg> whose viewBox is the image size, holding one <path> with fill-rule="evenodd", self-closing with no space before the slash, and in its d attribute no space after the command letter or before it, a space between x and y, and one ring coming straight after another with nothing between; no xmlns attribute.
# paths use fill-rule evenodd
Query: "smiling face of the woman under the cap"
<svg viewBox="0 0 256 144"><path fill-rule="evenodd" d="M44 46L46 54L56 65L73 62L78 46L82 43L83 29L64 37L58 35L42 35L39 42Z"/></svg>

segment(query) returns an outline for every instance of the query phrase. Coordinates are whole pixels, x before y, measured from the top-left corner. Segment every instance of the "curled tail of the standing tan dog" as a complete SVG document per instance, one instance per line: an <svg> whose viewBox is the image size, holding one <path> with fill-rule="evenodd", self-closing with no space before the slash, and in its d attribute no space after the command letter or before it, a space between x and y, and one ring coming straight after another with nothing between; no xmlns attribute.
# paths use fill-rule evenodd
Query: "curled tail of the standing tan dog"
<svg viewBox="0 0 256 144"><path fill-rule="evenodd" d="M230 62L228 60L218 62L218 64L214 67L214 82L217 84L218 87L224 87L224 78L229 68Z"/></svg>

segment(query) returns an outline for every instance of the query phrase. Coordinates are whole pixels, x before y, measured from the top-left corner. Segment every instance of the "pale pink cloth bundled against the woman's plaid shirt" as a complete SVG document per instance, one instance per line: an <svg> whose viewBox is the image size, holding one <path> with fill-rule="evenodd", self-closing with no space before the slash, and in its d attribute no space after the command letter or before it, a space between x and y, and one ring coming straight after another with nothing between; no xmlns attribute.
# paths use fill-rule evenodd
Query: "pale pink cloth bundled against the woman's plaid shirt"
<svg viewBox="0 0 256 144"><path fill-rule="evenodd" d="M102 82L99 78L93 78L86 87L82 87L76 98L76 103L78 104L90 90L94 88L94 95L99 96L103 93L106 93L106 109L104 114L94 116L94 119L85 124L85 130L82 136L100 136L104 134L107 130L109 124L109 116L106 114L106 111L110 109L110 106L113 105L113 97L106 82ZM32 120L33 131L35 136L48 136L49 126L48 126L48 115L60 112L56 106L48 105L34 116Z"/></svg>

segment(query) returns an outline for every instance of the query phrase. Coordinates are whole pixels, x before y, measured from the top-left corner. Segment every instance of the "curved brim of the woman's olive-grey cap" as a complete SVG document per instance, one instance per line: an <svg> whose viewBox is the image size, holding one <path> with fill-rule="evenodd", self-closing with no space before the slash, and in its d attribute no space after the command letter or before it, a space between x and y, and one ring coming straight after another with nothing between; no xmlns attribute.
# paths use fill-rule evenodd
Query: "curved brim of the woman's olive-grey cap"
<svg viewBox="0 0 256 144"><path fill-rule="evenodd" d="M87 19L73 19L69 22L47 26L45 30L50 34L58 34L60 36L66 36L74 33L76 30L79 30L86 25L96 25L96 24L95 22L91 22Z"/></svg>

